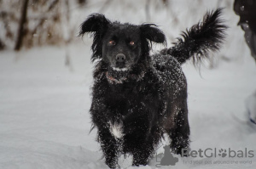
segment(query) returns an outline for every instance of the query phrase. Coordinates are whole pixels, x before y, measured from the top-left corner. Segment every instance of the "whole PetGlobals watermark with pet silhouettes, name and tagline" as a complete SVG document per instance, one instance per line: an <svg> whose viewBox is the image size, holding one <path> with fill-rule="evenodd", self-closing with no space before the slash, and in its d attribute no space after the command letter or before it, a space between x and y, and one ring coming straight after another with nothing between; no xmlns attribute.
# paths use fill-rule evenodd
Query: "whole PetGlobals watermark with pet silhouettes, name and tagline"
<svg viewBox="0 0 256 169"><path fill-rule="evenodd" d="M237 165L252 165L254 152L251 149L182 149L182 155L173 155L170 150L170 145L162 147L164 153L156 154L155 166L176 166L182 162L185 165L222 165L222 164L237 164ZM192 157L192 158L183 158Z"/></svg>

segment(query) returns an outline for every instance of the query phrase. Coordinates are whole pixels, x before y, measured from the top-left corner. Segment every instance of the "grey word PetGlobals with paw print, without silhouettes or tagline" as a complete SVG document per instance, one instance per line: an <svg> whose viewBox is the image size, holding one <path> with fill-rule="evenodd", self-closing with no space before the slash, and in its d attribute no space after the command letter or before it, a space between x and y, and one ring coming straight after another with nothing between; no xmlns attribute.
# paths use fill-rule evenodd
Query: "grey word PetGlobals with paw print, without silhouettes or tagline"
<svg viewBox="0 0 256 169"><path fill-rule="evenodd" d="M233 150L233 149L198 149L198 150L191 150L191 149L182 149L182 157L184 156L191 156L191 157L207 157L207 158L212 158L212 157L238 157L238 158L253 158L254 157L254 152L253 150L248 150L247 148L245 149L240 149L240 150Z"/></svg>

